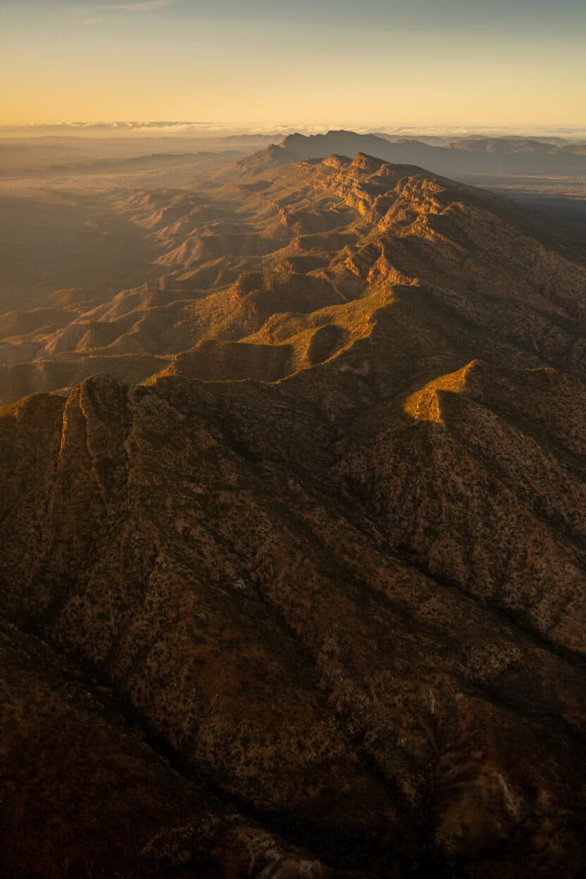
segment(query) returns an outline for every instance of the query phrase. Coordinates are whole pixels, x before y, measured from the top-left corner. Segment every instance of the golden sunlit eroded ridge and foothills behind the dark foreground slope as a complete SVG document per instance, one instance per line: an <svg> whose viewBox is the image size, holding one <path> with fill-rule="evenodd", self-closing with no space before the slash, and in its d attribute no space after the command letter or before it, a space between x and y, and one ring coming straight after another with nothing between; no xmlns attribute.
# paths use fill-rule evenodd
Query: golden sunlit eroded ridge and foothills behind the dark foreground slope
<svg viewBox="0 0 586 879"><path fill-rule="evenodd" d="M119 193L158 277L89 310L60 294L4 315L0 400L103 371L275 381L369 338L409 301L472 332L471 356L579 367L586 270L505 201L363 154L226 176L199 193Z"/></svg>

